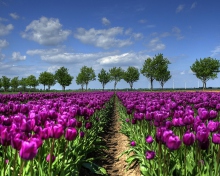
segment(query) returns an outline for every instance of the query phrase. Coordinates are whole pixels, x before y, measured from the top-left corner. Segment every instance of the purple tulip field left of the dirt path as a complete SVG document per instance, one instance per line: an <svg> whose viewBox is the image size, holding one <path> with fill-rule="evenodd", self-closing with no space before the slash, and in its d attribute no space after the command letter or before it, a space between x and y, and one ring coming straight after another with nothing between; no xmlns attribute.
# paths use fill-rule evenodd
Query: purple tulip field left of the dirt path
<svg viewBox="0 0 220 176"><path fill-rule="evenodd" d="M96 172L88 155L108 123L113 92L19 93L0 95L2 176L79 175Z"/></svg>

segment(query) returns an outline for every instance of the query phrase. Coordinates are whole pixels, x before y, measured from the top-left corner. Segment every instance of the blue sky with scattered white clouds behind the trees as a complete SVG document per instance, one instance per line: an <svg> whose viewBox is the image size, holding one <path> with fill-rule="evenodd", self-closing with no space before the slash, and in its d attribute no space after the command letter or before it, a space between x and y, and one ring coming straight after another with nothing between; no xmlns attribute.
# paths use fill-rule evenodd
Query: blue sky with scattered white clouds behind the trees
<svg viewBox="0 0 220 176"><path fill-rule="evenodd" d="M79 89L75 80L83 66L96 75L102 68L140 70L161 53L171 62L164 88L201 87L190 66L200 58L220 59L219 9L219 0L0 0L0 77L38 78L64 66L74 77L66 89ZM220 87L218 77L207 87ZM134 83L135 89L149 87L143 75ZM102 88L98 77L88 88ZM129 84L121 80L117 88Z"/></svg>

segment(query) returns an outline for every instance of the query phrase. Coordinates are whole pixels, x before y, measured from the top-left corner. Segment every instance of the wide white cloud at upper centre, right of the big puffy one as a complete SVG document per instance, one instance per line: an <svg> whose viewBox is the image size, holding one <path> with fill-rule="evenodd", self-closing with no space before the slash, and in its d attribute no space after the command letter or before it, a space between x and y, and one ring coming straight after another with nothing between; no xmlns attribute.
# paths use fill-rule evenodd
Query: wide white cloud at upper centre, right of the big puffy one
<svg viewBox="0 0 220 176"><path fill-rule="evenodd" d="M91 44L104 49L109 49L111 47L124 47L132 44L129 39L123 40L116 38L118 35L123 35L122 27L114 27L104 30L96 30L94 28L86 30L84 28L78 28L74 37L79 39L82 43Z"/></svg>

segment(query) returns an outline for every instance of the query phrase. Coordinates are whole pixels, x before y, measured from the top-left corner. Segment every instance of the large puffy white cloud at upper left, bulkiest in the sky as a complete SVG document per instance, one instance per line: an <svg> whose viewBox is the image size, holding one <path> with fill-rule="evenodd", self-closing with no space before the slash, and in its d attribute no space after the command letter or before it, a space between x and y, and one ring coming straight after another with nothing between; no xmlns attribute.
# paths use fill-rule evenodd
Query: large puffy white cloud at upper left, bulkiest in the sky
<svg viewBox="0 0 220 176"><path fill-rule="evenodd" d="M62 29L59 19L41 17L26 26L21 36L42 45L57 45L66 40L70 33L70 30Z"/></svg>

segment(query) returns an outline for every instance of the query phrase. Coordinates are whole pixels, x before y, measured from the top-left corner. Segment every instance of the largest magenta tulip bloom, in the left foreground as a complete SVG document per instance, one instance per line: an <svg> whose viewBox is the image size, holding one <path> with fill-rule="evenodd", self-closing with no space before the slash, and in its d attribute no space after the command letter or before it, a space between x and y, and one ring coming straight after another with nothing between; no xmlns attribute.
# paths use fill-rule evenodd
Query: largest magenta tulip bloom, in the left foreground
<svg viewBox="0 0 220 176"><path fill-rule="evenodd" d="M32 160L37 155L37 144L34 141L22 141L19 155L24 160Z"/></svg>

